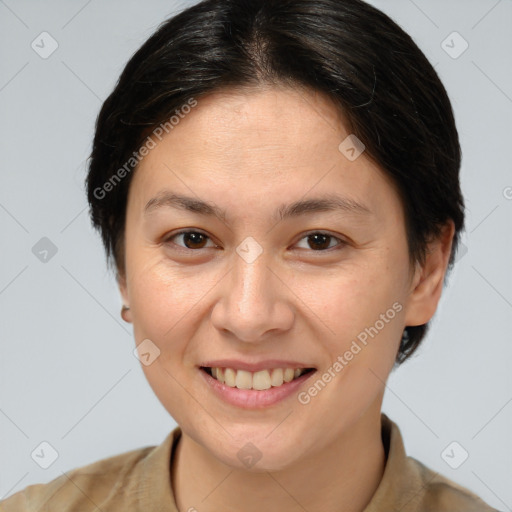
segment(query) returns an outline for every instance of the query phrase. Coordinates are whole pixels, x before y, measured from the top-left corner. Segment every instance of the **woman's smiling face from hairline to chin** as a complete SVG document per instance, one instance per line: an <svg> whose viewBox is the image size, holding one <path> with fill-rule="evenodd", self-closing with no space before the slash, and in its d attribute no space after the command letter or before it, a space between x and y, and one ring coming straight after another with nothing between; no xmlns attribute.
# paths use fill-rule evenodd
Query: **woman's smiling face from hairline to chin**
<svg viewBox="0 0 512 512"><path fill-rule="evenodd" d="M226 464L251 442L284 468L380 410L404 326L433 313L397 192L349 135L313 92L217 92L133 176L120 288L143 369Z"/></svg>

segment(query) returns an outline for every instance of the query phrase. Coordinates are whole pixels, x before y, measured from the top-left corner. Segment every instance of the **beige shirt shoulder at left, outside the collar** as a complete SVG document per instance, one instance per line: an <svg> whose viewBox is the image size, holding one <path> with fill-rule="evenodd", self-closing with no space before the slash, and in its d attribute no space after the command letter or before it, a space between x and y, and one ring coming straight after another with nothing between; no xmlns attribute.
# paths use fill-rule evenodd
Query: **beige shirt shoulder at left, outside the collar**
<svg viewBox="0 0 512 512"><path fill-rule="evenodd" d="M168 441L169 437L160 446L131 450L63 472L46 484L29 485L0 501L0 512L129 509L137 502L144 471Z"/></svg>

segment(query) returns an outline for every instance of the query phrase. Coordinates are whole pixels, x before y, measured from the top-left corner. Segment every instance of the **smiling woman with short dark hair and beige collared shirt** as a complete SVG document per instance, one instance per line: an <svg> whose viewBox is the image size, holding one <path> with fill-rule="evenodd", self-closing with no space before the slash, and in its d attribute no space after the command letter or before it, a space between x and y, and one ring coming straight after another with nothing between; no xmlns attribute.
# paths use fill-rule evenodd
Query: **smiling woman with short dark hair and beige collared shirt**
<svg viewBox="0 0 512 512"><path fill-rule="evenodd" d="M446 91L359 0L206 0L135 53L87 178L179 425L2 510L490 511L381 412L464 225Z"/></svg>

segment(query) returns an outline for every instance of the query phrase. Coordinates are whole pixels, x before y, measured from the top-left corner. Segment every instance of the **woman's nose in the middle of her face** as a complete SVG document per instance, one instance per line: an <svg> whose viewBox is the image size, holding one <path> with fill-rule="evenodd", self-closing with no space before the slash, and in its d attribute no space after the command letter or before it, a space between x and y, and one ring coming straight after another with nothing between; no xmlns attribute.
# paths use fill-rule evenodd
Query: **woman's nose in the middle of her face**
<svg viewBox="0 0 512 512"><path fill-rule="evenodd" d="M211 320L216 329L246 343L279 336L293 325L292 296L285 279L264 252L248 263L234 254L232 271L221 281Z"/></svg>

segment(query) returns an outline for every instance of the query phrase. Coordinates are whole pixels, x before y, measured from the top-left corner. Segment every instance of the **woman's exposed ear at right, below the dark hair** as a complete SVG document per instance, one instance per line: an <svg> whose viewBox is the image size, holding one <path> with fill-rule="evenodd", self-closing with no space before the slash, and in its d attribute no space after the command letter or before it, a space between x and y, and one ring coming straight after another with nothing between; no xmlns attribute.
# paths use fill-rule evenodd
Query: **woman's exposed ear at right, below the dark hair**
<svg viewBox="0 0 512 512"><path fill-rule="evenodd" d="M406 305L405 325L426 324L436 312L450 252L455 225L449 220L439 236L428 244L425 262L416 265Z"/></svg>

